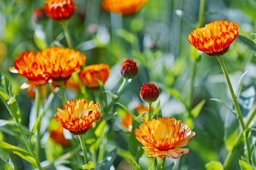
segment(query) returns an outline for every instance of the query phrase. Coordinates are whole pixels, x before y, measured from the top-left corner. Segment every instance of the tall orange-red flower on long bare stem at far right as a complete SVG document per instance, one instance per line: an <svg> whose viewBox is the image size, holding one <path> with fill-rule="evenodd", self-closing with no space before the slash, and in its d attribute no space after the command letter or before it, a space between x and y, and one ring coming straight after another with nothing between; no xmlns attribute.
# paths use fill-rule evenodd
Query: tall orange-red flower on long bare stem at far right
<svg viewBox="0 0 256 170"><path fill-rule="evenodd" d="M239 25L227 20L218 20L197 28L188 36L188 41L208 55L222 55L239 34Z"/></svg>

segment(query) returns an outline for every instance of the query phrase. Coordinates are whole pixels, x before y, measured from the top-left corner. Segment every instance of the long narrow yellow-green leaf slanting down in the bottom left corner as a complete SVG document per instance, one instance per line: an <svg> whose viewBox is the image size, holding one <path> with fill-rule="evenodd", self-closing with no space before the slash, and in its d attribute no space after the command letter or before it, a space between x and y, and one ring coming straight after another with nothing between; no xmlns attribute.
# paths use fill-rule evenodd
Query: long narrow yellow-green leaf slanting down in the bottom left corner
<svg viewBox="0 0 256 170"><path fill-rule="evenodd" d="M28 151L22 149L22 148L19 148L17 146L14 146L14 145L10 145L8 143L5 143L4 141L0 141L0 147L1 148L4 148L16 155L18 155L19 157L21 157L22 159L25 159L27 160L28 162L30 162L31 164L33 164L34 166L38 167L38 164L36 162L36 159L35 157L33 157L32 155L30 155L28 153Z"/></svg>

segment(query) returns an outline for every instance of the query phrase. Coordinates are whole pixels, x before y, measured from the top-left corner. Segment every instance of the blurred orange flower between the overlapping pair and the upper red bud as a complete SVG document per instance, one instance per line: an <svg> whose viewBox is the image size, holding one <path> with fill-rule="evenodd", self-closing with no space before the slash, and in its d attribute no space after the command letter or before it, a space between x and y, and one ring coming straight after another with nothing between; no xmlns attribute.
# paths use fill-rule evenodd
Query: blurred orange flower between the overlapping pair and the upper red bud
<svg viewBox="0 0 256 170"><path fill-rule="evenodd" d="M78 73L78 77L87 87L99 87L97 80L105 83L108 80L109 73L110 68L107 64L95 64L84 67Z"/></svg>

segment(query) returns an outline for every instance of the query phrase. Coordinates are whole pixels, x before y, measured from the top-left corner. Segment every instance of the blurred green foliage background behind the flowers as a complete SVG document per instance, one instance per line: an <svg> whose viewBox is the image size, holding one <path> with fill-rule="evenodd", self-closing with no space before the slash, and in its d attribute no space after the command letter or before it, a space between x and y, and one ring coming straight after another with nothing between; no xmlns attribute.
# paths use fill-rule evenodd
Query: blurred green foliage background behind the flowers
<svg viewBox="0 0 256 170"><path fill-rule="evenodd" d="M139 96L142 83L154 82L161 89L159 101L163 115L182 118L186 107L180 102L179 96L186 102L189 100L189 81L193 66L188 34L198 24L200 1L151 0L139 13L129 17L108 13L101 7L100 0L74 2L76 12L68 20L74 48L86 54L86 65L104 62L111 66L106 89L117 89L122 81L120 63L131 57L138 62L139 74L120 98L120 103L130 108L142 103ZM33 10L42 6L44 1L39 0L0 1L0 70L12 82L13 93L16 94L22 111L22 124L27 126L31 99L26 90L19 89L26 79L9 73L8 67L13 66L13 60L19 56L19 52L38 50L45 46L67 46L58 22L50 18L38 22L33 20ZM206 0L204 24L213 20L234 21L240 26L240 34L253 40L256 35L253 34L256 33L255 6L255 0ZM243 78L239 98L246 117L255 99L255 56L235 41L224 58L235 89L240 76L244 71L249 71ZM198 117L193 120L196 135L188 145L190 152L182 156L182 159L175 160L175 169L205 169L205 164L212 160L223 162L228 148L236 138L238 122L234 115L221 104L210 101L211 98L218 98L228 101L228 106L232 107L220 66L214 57L206 54L200 55L198 60L193 104L195 106L202 99L205 99L205 104ZM175 93L173 89L176 90ZM60 100L56 99L56 103L60 104ZM52 115L58 104L52 104ZM10 119L3 103L0 103L0 110L1 119ZM120 118L116 115L116 119L111 121L108 145L127 148L127 134L118 125ZM45 120L45 125L47 124ZM8 134L3 127L0 131ZM255 134L252 135L254 144ZM13 143L18 145L19 139L16 140ZM230 169L240 169L238 160L243 152L241 145ZM120 162L117 159L116 162L118 161ZM167 161L173 162L171 159ZM140 163L143 164L143 159Z"/></svg>

